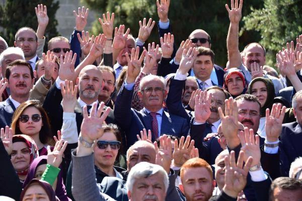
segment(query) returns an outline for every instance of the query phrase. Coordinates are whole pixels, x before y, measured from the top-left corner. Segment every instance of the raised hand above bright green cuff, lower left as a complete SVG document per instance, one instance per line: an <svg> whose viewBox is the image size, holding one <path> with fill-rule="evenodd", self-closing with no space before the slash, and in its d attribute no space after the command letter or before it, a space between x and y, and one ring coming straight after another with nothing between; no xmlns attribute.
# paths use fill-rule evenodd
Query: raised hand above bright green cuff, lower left
<svg viewBox="0 0 302 201"><path fill-rule="evenodd" d="M52 151L50 150L50 146L47 146L47 164L59 167L67 144L67 141L64 142L64 140L60 139L55 143Z"/></svg>

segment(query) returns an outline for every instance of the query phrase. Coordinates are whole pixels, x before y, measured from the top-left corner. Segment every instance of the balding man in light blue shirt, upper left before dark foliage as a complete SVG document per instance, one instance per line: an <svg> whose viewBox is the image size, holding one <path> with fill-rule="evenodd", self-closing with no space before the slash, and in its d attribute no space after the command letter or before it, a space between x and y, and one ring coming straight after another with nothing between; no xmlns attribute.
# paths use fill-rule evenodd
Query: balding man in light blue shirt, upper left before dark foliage
<svg viewBox="0 0 302 201"><path fill-rule="evenodd" d="M20 47L25 56L25 60L35 69L35 64L39 60L36 52L38 48L38 37L36 32L30 27L22 27L15 35L15 47Z"/></svg>

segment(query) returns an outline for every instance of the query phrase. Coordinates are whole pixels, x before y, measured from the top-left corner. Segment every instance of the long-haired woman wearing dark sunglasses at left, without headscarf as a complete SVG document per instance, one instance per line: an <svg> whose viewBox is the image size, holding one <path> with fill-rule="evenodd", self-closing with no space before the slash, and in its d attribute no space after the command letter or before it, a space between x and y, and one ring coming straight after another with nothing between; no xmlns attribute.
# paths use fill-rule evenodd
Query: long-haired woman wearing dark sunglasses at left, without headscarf
<svg viewBox="0 0 302 201"><path fill-rule="evenodd" d="M47 145L54 145L48 117L38 100L27 100L14 113L14 135L28 135L36 143L39 155L47 155Z"/></svg>

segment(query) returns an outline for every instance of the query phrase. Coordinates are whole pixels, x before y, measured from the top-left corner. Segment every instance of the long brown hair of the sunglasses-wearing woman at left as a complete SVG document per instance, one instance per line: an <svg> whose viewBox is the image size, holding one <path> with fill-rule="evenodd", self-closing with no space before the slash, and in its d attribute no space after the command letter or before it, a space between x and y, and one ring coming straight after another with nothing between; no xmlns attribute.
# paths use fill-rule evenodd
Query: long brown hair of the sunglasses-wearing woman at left
<svg viewBox="0 0 302 201"><path fill-rule="evenodd" d="M43 126L41 127L41 130L39 132L39 139L43 144L49 144L54 145L53 136L50 129L50 124L48 120L48 116L45 112L45 110L42 108L39 100L27 100L26 102L22 103L14 112L13 118L12 118L12 125L11 128L13 129L13 133L15 135L20 135L22 132L19 128L19 117L24 113L24 111L29 108L34 107L41 113L42 116L42 123Z"/></svg>

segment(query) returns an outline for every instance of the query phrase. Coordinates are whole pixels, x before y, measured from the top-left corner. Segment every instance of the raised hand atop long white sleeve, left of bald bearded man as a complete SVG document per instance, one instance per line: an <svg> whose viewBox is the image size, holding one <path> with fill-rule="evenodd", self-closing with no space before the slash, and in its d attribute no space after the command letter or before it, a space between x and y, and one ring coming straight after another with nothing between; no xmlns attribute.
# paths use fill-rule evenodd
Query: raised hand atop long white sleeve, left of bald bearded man
<svg viewBox="0 0 302 201"><path fill-rule="evenodd" d="M65 86L63 83L60 83L61 93L63 96L62 107L65 113L73 113L75 105L77 105L77 91L78 85L74 85L73 82L65 80Z"/></svg>

